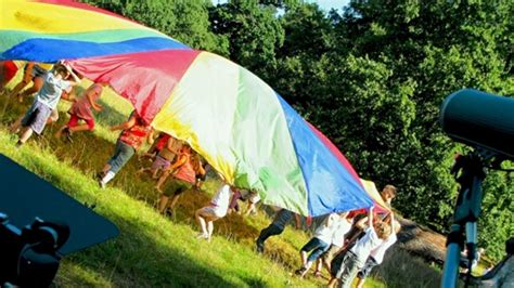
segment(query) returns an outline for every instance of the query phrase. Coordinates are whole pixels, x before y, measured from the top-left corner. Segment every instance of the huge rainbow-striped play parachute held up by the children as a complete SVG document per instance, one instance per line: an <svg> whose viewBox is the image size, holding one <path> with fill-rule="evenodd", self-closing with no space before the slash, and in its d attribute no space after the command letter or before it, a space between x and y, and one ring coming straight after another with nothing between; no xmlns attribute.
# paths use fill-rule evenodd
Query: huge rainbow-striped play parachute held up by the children
<svg viewBox="0 0 514 288"><path fill-rule="evenodd" d="M69 61L266 204L305 215L373 205L340 152L245 68L87 4L8 0L0 13L0 60Z"/></svg>

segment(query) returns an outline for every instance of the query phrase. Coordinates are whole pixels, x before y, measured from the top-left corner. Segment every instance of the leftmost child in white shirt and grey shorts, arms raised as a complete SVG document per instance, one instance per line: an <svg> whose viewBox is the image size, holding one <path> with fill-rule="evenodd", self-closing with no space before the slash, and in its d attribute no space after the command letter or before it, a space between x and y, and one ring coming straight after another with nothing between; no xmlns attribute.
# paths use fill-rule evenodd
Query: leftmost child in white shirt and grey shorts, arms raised
<svg viewBox="0 0 514 288"><path fill-rule="evenodd" d="M64 80L70 75L73 80ZM44 126L56 112L63 90L80 82L68 65L57 64L51 73L44 75L44 84L36 95L36 99L23 118L20 118L11 128L13 132L23 127L22 135L16 144L22 146L33 135L33 132L41 134Z"/></svg>

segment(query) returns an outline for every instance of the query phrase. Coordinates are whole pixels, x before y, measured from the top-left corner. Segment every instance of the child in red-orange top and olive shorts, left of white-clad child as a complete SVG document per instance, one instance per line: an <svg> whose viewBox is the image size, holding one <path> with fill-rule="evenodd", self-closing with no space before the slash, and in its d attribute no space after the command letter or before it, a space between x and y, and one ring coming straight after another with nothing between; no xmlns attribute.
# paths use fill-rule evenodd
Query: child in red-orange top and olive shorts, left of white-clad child
<svg viewBox="0 0 514 288"><path fill-rule="evenodd" d="M203 168L195 169L195 167L193 167L191 154L191 146L187 144L182 145L182 149L180 150L180 155L179 157L177 157L177 160L167 170L164 171L163 175L157 181L157 185L155 186L155 188L157 189L157 192L160 193L158 202L159 213L164 214L166 212L166 209L170 209L170 212L172 214L175 206L177 205L177 201L180 198L180 195L190 189L195 184L195 171L203 171ZM166 191L163 191L162 186L172 172L175 173L172 175L174 179L171 184ZM170 202L169 197L171 197Z"/></svg>

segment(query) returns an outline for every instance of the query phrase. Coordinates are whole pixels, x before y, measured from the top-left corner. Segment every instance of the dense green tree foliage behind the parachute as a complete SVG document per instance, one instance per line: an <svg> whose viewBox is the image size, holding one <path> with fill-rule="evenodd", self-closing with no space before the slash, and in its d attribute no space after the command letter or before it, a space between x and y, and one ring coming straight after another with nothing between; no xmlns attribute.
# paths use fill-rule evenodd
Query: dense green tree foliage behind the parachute
<svg viewBox="0 0 514 288"><path fill-rule="evenodd" d="M465 148L440 129L442 100L462 88L514 94L512 1L352 0L343 13L295 0L87 2L249 68L361 176L395 184L404 217L438 231L457 194L453 154ZM480 241L498 258L514 235L514 187L491 172L486 192Z"/></svg>

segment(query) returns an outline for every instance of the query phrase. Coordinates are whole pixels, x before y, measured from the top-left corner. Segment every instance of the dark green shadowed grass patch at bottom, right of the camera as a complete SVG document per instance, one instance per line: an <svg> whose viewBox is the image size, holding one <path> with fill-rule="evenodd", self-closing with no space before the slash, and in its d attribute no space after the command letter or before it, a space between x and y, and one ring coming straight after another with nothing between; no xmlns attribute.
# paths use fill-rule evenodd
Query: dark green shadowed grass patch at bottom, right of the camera
<svg viewBox="0 0 514 288"><path fill-rule="evenodd" d="M147 228L120 215L108 215L120 228L120 236L108 243L67 258L97 277L118 287L237 287L216 270L198 263L184 251L162 245ZM170 239L171 240L171 239ZM67 275L57 275L56 286L64 286ZM75 285L91 285L83 277ZM243 279L246 282L246 279ZM258 283L258 279L247 279Z"/></svg>

